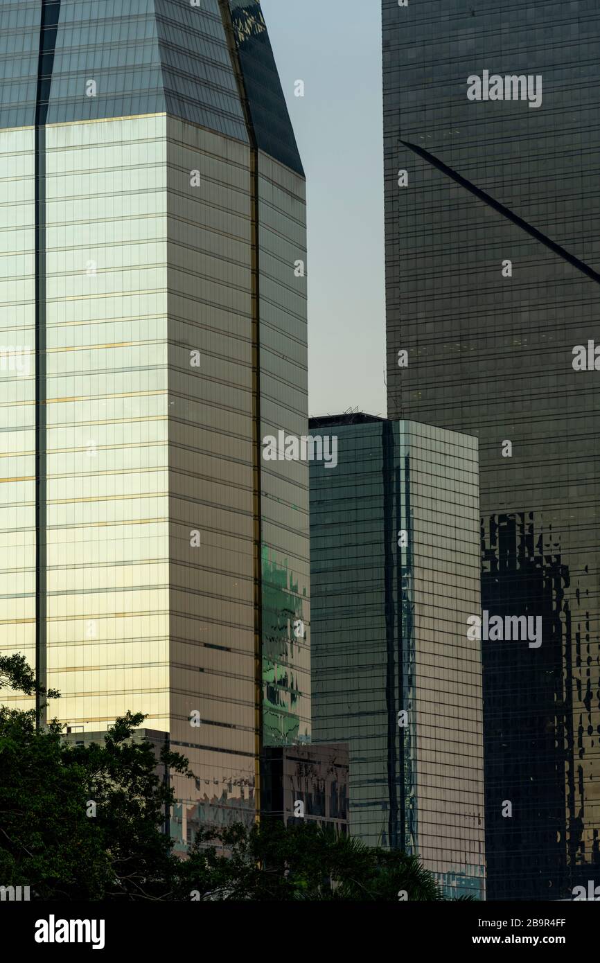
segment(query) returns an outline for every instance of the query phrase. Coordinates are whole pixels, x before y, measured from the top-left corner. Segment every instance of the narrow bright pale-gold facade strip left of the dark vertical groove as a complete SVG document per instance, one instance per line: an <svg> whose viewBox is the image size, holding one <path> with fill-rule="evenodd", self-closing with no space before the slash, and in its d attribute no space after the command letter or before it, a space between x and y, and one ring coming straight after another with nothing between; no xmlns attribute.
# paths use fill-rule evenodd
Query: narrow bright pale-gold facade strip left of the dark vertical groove
<svg viewBox="0 0 600 963"><path fill-rule="evenodd" d="M0 132L0 611L5 654L36 664L36 153ZM27 708L31 708L28 704Z"/></svg>

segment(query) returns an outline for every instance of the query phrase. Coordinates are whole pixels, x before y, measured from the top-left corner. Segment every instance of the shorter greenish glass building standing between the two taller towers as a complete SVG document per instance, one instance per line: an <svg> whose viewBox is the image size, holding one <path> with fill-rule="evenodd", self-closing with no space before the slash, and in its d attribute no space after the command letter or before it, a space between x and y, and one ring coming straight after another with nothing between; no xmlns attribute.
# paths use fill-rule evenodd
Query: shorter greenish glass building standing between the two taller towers
<svg viewBox="0 0 600 963"><path fill-rule="evenodd" d="M350 749L350 831L483 898L477 440L367 415L311 419L313 738Z"/></svg>

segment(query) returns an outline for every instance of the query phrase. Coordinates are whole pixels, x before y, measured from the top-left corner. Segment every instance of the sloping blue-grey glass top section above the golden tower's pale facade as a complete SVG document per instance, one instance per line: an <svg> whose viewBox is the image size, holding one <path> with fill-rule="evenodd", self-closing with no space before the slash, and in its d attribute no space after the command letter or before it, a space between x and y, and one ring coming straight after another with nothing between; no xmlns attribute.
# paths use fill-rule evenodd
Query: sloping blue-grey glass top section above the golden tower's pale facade
<svg viewBox="0 0 600 963"><path fill-rule="evenodd" d="M2 0L0 30L0 127L36 122L39 75L47 123L166 111L248 143L219 0Z"/></svg>

